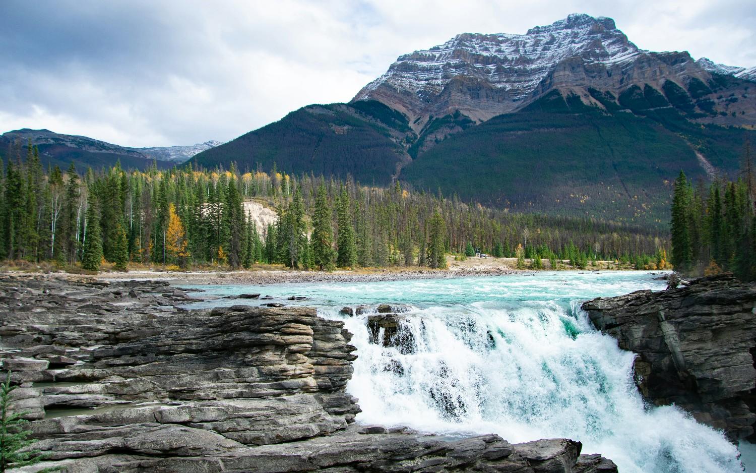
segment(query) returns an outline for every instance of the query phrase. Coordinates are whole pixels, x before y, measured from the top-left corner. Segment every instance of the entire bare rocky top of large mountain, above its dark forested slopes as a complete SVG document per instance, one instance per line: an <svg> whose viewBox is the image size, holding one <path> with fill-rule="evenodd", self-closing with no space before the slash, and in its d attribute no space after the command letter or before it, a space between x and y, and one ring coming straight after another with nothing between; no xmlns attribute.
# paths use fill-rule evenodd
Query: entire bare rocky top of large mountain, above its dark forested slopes
<svg viewBox="0 0 756 473"><path fill-rule="evenodd" d="M684 51L642 50L611 18L571 14L524 35L464 33L444 45L404 54L352 101L381 101L406 114L413 129L420 132L432 118L455 110L481 122L521 110L553 90L604 107L589 89L617 97L632 86L650 86L665 95L667 81L687 89L691 81L716 81L712 73L749 77L743 68L693 61ZM717 101L711 87L705 89L698 94L707 95L717 112L729 108L727 102ZM734 117L737 120L729 124L756 123L752 113L756 102L752 94L747 99L751 114ZM712 115L716 118L717 114Z"/></svg>

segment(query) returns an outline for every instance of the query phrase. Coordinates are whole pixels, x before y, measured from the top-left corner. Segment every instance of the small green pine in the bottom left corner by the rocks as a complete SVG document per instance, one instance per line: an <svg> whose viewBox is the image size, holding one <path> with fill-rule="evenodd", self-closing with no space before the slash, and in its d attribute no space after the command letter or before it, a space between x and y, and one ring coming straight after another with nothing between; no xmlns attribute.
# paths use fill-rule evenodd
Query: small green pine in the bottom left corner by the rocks
<svg viewBox="0 0 756 473"><path fill-rule="evenodd" d="M34 465L42 461L39 450L22 450L35 440L28 440L32 431L24 430L28 423L21 417L26 412L11 412L11 393L17 386L11 386L11 372L0 383L0 471L10 468Z"/></svg>

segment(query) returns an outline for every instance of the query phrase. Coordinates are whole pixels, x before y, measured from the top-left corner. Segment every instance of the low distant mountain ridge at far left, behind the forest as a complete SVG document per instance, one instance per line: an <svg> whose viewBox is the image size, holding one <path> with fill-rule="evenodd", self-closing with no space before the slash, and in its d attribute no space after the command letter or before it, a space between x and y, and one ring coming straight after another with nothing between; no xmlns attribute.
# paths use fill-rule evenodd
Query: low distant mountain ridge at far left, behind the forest
<svg viewBox="0 0 756 473"><path fill-rule="evenodd" d="M191 146L169 146L155 148L129 148L113 145L95 138L79 135L64 135L48 129L17 129L0 135L0 157L7 158L11 148L20 143L25 146L29 139L39 148L43 163L60 167L75 162L77 166L110 166L121 161L124 167L144 169L156 161L161 169L183 163L195 154L221 145L209 141Z"/></svg>

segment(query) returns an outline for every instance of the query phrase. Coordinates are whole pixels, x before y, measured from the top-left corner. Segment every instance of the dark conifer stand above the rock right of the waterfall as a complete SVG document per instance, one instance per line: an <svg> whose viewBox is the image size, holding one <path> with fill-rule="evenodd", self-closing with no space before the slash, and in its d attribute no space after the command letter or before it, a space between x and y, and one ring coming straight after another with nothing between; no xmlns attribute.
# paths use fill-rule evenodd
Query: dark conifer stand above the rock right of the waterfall
<svg viewBox="0 0 756 473"><path fill-rule="evenodd" d="M693 185L685 173L674 182L671 262L689 275L731 271L756 281L756 182L746 145L741 176Z"/></svg>

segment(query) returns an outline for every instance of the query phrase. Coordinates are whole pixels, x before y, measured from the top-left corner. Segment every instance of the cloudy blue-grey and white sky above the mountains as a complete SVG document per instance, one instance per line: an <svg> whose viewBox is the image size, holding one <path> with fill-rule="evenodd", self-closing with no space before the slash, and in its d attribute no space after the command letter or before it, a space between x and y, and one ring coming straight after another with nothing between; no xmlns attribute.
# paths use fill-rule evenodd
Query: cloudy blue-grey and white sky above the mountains
<svg viewBox="0 0 756 473"><path fill-rule="evenodd" d="M399 54L575 12L640 48L756 66L753 0L0 0L0 132L228 141L349 101Z"/></svg>

